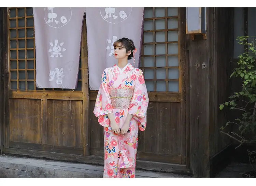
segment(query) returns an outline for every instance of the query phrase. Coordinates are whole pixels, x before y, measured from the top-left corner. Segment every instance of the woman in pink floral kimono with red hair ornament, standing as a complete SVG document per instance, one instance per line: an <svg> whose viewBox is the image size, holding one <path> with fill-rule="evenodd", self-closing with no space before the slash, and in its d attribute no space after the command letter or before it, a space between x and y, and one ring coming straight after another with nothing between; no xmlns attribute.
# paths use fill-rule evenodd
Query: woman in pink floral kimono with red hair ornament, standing
<svg viewBox="0 0 256 186"><path fill-rule="evenodd" d="M128 59L136 48L132 40L114 43L118 64L102 74L94 114L104 127L103 177L135 177L138 131L146 128L148 95L143 72Z"/></svg>

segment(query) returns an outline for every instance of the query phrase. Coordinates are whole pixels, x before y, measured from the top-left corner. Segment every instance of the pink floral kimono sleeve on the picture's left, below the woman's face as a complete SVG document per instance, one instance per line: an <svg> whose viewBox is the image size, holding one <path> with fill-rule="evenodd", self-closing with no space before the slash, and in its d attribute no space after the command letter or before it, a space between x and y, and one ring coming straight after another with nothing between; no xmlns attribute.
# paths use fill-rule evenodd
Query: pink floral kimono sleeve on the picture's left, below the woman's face
<svg viewBox="0 0 256 186"><path fill-rule="evenodd" d="M109 127L110 119L107 114L112 112L112 105L109 96L108 71L105 69L102 77L93 113L98 117L98 122L103 127Z"/></svg>

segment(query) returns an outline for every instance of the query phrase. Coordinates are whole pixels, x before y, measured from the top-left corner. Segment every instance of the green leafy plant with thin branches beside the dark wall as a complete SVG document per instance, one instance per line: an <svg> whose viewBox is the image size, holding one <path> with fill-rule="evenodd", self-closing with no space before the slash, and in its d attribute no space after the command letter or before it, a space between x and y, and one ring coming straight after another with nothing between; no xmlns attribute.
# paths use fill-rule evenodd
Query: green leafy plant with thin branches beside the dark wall
<svg viewBox="0 0 256 186"><path fill-rule="evenodd" d="M241 115L237 115L238 118L234 121L228 121L225 127L222 126L221 132L240 142L241 146L244 143L256 142L256 40L248 36L238 37L237 40L245 49L244 53L238 56L238 68L233 70L230 78L237 77L242 80L241 91L234 92L229 97L230 101L220 104L219 109L229 106L231 112L240 111ZM238 127L237 132L225 132L225 128L230 124Z"/></svg>

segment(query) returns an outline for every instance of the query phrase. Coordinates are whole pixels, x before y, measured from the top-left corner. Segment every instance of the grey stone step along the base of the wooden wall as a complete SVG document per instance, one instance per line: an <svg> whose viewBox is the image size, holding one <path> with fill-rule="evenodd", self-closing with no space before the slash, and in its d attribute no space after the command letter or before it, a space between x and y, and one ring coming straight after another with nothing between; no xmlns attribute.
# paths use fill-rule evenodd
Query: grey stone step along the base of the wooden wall
<svg viewBox="0 0 256 186"><path fill-rule="evenodd" d="M103 177L103 166L0 155L0 177ZM136 177L190 177L136 170Z"/></svg>

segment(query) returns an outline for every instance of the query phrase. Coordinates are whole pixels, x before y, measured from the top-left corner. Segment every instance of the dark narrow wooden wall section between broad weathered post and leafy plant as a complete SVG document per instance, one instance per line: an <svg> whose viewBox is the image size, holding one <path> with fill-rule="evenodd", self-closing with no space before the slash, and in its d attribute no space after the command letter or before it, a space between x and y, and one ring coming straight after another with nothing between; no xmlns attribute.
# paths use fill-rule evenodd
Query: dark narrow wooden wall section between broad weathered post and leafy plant
<svg viewBox="0 0 256 186"><path fill-rule="evenodd" d="M226 102L231 94L229 76L232 72L230 65L233 56L233 9L217 8L215 13L215 55L214 85L212 86L212 113L210 119L210 156L214 156L230 144L229 137L220 133L229 117L229 110L219 110L219 104ZM225 19L224 19L225 17ZM215 101L216 100L216 101ZM214 121L214 122L212 122Z"/></svg>

